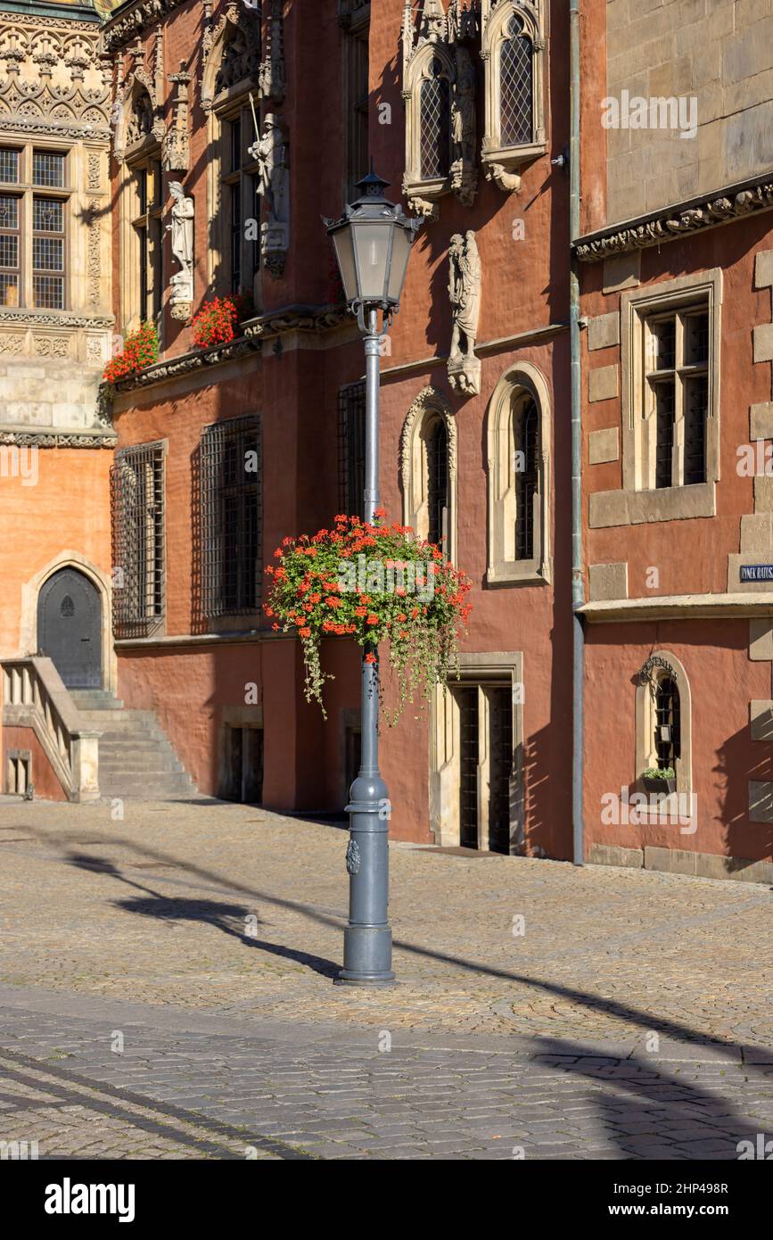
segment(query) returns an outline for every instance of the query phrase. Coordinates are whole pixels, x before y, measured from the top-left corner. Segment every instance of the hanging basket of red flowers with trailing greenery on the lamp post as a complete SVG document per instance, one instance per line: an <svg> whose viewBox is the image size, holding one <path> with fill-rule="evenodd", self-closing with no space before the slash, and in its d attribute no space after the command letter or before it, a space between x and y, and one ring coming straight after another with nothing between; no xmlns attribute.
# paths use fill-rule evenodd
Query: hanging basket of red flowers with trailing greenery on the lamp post
<svg viewBox="0 0 773 1240"><path fill-rule="evenodd" d="M306 699L325 712L323 637L347 636L377 662L373 647L388 642L388 661L399 686L394 724L417 689L427 699L436 684L457 671L457 639L465 630L471 583L442 552L421 542L409 526L337 516L333 529L313 537L282 538L274 552L274 578L265 613L276 631L295 630L304 646ZM379 683L379 692L382 686ZM327 717L327 715L326 715Z"/></svg>

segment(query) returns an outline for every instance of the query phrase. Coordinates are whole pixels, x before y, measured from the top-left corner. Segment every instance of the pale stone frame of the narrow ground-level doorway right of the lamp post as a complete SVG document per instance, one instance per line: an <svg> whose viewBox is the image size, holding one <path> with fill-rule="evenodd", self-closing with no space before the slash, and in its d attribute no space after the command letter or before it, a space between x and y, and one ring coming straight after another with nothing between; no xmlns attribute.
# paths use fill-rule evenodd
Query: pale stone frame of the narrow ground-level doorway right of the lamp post
<svg viewBox="0 0 773 1240"><path fill-rule="evenodd" d="M467 682L479 688L502 687L509 683L513 702L513 768L510 774L510 856L520 856L525 842L524 758L523 758L523 651L462 652L458 656L460 681L439 687L430 707L430 780L429 808L430 831L435 843L458 847L460 843L460 719L453 698L453 686ZM487 699L483 698L481 728L486 733ZM483 779L488 754L483 753L479 766ZM479 790L481 794L481 790ZM488 844L488 823L481 822L481 844Z"/></svg>

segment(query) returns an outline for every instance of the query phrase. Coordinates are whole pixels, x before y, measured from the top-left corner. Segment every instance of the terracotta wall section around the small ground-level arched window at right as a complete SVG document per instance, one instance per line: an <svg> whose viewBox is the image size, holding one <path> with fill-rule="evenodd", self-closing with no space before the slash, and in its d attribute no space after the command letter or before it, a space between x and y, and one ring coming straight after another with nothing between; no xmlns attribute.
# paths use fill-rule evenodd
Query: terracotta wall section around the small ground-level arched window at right
<svg viewBox="0 0 773 1240"><path fill-rule="evenodd" d="M769 780L772 746L752 740L748 703L771 697L771 665L748 658L748 620L590 625L586 630L585 823L595 843L647 844L762 861L773 827L748 821L748 781ZM605 825L602 796L635 791L635 673L653 649L684 665L692 698L697 830L678 823Z"/></svg>

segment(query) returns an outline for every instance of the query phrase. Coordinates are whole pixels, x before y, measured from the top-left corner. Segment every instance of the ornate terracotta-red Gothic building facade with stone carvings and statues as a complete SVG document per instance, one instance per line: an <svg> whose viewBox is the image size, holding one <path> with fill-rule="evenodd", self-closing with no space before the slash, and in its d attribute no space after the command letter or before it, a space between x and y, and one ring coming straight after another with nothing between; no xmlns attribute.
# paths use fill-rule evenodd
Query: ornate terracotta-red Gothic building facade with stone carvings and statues
<svg viewBox="0 0 773 1240"><path fill-rule="evenodd" d="M4 744L31 769L6 758L6 790L105 791L93 698L61 724L77 745L69 789L57 784L51 739L25 713L42 677L50 697L74 688L76 709L92 687L152 719L201 792L346 805L358 650L323 646L325 720L304 697L300 644L263 614L263 568L284 536L360 511L364 358L321 217L341 215L373 157L388 196L424 221L382 357L382 498L473 583L458 681L384 728L393 836L764 877L773 508L764 464L745 474L740 449L759 440L764 460L773 436L769 5L582 0L576 21L556 0L331 0L313 16L279 0L128 0L102 19L53 7L99 40L83 72L99 74L100 102L82 98L102 120L83 113L92 129L38 151L27 120L0 115L22 170L9 193L32 221L19 303L10 279L0 310L2 339L24 337L6 391L24 405L24 367L43 371L53 326L71 352L46 365L72 358L72 383L90 387L72 401L77 444L52 429L58 402L45 413L41 469L63 454L51 491L41 474L27 503L19 479L4 508L30 548L9 568L2 632ZM46 6L6 0L9 30L28 9ZM0 46L2 105L27 43ZM30 47L25 72L45 78L58 55L76 81L69 43ZM72 234L55 310L35 301L56 275L35 267L42 148L72 170L55 195ZM234 296L234 339L197 345L201 308ZM98 393L142 325L157 360ZM33 418L15 412L4 434ZM90 500L57 528L51 505L68 508L77 486ZM12 494L4 482L6 505ZM48 588L58 619L40 601L64 569L99 595L88 673L62 636L73 579ZM48 629L30 627L31 610Z"/></svg>

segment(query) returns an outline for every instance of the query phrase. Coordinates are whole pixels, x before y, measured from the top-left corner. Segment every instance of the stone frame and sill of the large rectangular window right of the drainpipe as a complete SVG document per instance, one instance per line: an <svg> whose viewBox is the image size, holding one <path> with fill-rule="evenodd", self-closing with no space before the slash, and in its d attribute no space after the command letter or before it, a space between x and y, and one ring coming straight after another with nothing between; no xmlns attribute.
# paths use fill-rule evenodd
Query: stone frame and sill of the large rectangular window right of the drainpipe
<svg viewBox="0 0 773 1240"><path fill-rule="evenodd" d="M710 319L709 410L706 415L706 481L689 486L644 490L640 486L643 460L637 446L637 410L644 398L644 320L660 311L676 310L706 299ZM647 288L621 294L621 423L622 491L590 496L592 528L676 521L716 515L716 484L720 480L720 355L722 322L722 272L715 267Z"/></svg>

